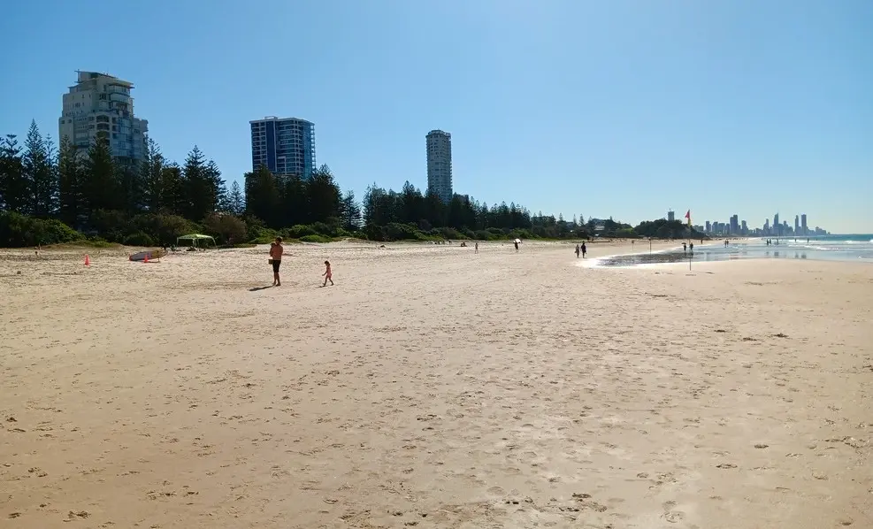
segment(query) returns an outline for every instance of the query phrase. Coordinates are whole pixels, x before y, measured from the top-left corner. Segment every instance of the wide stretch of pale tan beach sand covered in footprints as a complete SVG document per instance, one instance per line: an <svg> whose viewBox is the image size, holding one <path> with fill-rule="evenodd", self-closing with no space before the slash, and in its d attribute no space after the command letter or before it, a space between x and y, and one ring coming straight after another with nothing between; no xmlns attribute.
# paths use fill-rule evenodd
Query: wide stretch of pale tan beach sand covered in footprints
<svg viewBox="0 0 873 529"><path fill-rule="evenodd" d="M0 526L873 527L873 267L572 248L0 251Z"/></svg>

